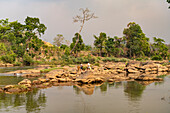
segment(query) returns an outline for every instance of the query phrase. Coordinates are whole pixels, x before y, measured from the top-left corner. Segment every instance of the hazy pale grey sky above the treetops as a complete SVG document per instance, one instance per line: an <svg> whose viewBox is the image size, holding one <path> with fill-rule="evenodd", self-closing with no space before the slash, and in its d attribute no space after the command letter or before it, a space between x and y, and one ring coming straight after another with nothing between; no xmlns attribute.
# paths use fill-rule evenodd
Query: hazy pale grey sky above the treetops
<svg viewBox="0 0 170 113"><path fill-rule="evenodd" d="M98 18L85 22L81 36L93 45L94 35L122 37L129 22L139 24L150 42L153 37L170 43L170 4L166 0L0 0L0 19L23 23L27 16L37 17L47 30L41 39L53 43L57 34L72 42L80 23L73 17L88 8Z"/></svg>

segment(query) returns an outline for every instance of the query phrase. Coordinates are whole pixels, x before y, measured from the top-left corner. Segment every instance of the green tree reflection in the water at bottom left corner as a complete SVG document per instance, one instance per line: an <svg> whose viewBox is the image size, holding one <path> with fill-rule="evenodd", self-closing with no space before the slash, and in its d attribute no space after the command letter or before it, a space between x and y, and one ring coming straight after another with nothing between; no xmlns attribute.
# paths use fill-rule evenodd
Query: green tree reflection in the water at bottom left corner
<svg viewBox="0 0 170 113"><path fill-rule="evenodd" d="M27 94L0 93L0 112L25 108L27 113L40 113L46 107L46 95L41 90L33 90ZM24 112L24 111L23 111Z"/></svg>

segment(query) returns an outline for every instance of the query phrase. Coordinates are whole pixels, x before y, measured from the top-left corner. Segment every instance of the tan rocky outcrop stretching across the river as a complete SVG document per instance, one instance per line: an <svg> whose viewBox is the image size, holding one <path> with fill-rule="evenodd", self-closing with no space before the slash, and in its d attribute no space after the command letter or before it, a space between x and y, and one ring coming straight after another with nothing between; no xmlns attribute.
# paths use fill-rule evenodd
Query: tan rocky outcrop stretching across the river
<svg viewBox="0 0 170 113"><path fill-rule="evenodd" d="M166 64L166 65L165 65ZM162 81L158 78L160 75L167 75L170 72L170 64L164 62L106 62L100 66L92 66L91 70L78 71L77 66L64 66L62 69L52 70L46 74L41 74L42 69L50 68L49 66L39 67L32 70L18 70L11 73L22 73L23 77L39 77L37 80L30 81L24 79L18 85L7 85L0 89L0 92L19 93L30 91L33 88L48 88L51 86L77 86L80 88L94 87L104 82L120 81L143 81L152 83L153 81ZM40 77L41 76L41 77ZM140 82L141 81L141 82ZM146 85L145 84L145 85Z"/></svg>

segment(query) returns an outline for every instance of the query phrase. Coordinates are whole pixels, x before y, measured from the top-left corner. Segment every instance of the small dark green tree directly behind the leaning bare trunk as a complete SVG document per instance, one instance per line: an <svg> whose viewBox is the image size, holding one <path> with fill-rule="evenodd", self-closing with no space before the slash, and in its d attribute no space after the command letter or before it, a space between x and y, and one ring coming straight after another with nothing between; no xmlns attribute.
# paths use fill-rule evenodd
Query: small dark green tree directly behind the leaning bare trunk
<svg viewBox="0 0 170 113"><path fill-rule="evenodd" d="M81 50L83 50L84 47L85 47L85 44L83 43L83 39L81 38L81 35L78 34L78 33L76 33L75 36L74 36L73 39L72 39L73 42L71 43L70 48L71 48L71 49L74 48L74 46L75 46L75 44L76 44L76 42L77 42L77 38L79 38L79 41L78 41L78 43L77 43L77 46L76 46L75 49L74 49L74 53L75 53L76 55L78 54L78 52L80 52Z"/></svg>

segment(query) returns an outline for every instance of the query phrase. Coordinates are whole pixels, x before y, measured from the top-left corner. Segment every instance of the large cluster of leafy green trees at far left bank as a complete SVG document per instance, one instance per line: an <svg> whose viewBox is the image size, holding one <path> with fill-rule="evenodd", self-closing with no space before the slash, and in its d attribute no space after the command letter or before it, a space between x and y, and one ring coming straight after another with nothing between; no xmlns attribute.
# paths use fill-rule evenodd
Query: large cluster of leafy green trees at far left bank
<svg viewBox="0 0 170 113"><path fill-rule="evenodd" d="M15 54L13 56L23 58L28 46L36 52L44 44L38 36L45 33L46 26L38 18L27 17L24 22L0 20L0 43L4 43L7 49L1 55Z"/></svg>

